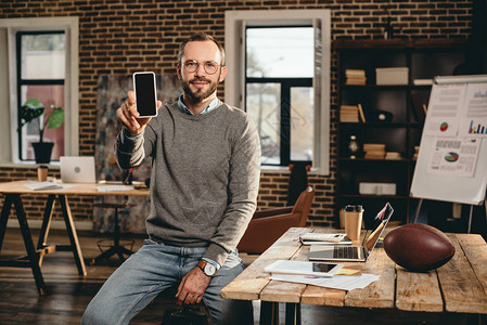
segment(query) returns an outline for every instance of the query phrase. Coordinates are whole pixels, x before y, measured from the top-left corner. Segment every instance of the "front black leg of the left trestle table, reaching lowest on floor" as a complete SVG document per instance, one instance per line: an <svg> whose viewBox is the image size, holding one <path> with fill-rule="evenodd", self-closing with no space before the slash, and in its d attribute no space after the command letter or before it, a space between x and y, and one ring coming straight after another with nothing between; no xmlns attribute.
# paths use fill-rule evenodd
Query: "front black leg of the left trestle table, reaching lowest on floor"
<svg viewBox="0 0 487 325"><path fill-rule="evenodd" d="M37 257L36 249L34 248L33 235L30 234L29 226L27 224L27 217L25 216L24 206L22 204L20 194L11 194L12 200L17 213L18 224L21 225L22 236L24 237L25 250L30 262L30 269L33 269L34 280L36 281L37 290L40 295L46 294L46 285L40 272L39 259Z"/></svg>

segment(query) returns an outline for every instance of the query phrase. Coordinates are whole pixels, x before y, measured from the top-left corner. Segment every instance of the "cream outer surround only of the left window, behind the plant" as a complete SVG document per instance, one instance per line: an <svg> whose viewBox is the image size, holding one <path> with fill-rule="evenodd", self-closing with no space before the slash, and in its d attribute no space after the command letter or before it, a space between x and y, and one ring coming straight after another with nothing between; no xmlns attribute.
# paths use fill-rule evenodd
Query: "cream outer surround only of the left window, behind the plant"
<svg viewBox="0 0 487 325"><path fill-rule="evenodd" d="M2 139L0 140L0 165L4 167L22 167L35 165L34 160L20 159L17 134L18 99L17 99L17 48L16 34L24 31L63 31L65 34L65 119L64 119L64 154L79 154L79 18L41 17L41 18L5 18L0 20L0 68L5 68L8 78L0 81L0 114L9 116L0 120ZM5 54L5 55L3 55ZM53 164L53 162L51 162ZM54 162L53 165L59 165Z"/></svg>

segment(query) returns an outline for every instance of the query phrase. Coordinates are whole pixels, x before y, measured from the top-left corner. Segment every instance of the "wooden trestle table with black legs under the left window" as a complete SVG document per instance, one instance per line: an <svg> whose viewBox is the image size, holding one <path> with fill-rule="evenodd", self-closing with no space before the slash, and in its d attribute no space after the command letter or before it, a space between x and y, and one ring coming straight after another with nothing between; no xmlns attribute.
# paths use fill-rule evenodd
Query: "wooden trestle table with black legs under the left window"
<svg viewBox="0 0 487 325"><path fill-rule="evenodd" d="M34 278L36 281L37 290L40 295L46 294L46 285L41 273L41 263L43 256L54 251L73 251L76 266L79 275L86 275L85 261L82 259L81 249L76 234L75 223L71 212L69 204L67 202L68 195L88 195L88 196L149 196L149 190L130 190L130 191L114 191L114 192L99 192L97 186L101 184L75 184L75 186L62 190L39 190L34 191L25 186L27 181L16 181L0 183L0 193L5 196L2 212L0 214L0 251L3 243L3 237L7 230L7 222L12 205L15 207L17 220L21 226L24 238L25 249L27 251L27 259L16 260L0 260L0 266L13 268L30 268L33 270ZM39 240L37 248L34 246L30 230L27 223L24 205L22 203L22 195L25 194L44 194L48 195L46 209L42 219L42 225L39 233ZM69 245L48 245L49 227L51 224L54 200L61 205L63 218L66 224L67 235L69 237Z"/></svg>

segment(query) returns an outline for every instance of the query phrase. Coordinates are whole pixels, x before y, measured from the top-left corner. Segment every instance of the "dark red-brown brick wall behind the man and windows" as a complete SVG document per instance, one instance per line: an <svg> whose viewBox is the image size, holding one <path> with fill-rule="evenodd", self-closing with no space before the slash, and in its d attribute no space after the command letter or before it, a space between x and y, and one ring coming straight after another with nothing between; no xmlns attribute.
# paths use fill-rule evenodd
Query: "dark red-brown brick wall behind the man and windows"
<svg viewBox="0 0 487 325"><path fill-rule="evenodd" d="M472 24L473 0L273 0L273 1L155 1L61 0L2 1L0 18L79 16L80 155L94 154L97 80L100 75L129 75L155 69L175 74L179 42L206 31L225 42L228 10L331 9L332 39L383 38L387 16L399 38L465 39ZM271 13L270 13L271 14ZM336 54L332 54L331 174L311 174L317 196L309 217L312 225L335 221ZM222 96L222 88L219 90ZM35 177L35 171L0 168L0 181ZM283 206L289 172L264 172L259 207ZM41 218L40 198L26 200L29 218ZM91 200L71 200L75 219L87 219ZM31 213L33 211L34 213ZM55 218L59 218L56 214Z"/></svg>

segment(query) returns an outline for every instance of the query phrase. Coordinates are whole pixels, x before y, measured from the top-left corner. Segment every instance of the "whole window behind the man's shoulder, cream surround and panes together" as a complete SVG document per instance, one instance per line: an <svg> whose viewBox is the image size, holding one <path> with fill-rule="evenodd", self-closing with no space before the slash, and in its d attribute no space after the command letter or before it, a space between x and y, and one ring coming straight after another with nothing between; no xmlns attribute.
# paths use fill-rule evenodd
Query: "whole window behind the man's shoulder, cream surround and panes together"
<svg viewBox="0 0 487 325"><path fill-rule="evenodd" d="M255 121L262 166L330 173L330 11L226 12L227 103Z"/></svg>

